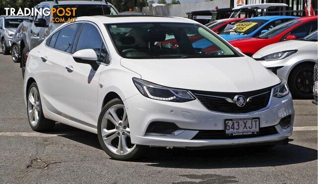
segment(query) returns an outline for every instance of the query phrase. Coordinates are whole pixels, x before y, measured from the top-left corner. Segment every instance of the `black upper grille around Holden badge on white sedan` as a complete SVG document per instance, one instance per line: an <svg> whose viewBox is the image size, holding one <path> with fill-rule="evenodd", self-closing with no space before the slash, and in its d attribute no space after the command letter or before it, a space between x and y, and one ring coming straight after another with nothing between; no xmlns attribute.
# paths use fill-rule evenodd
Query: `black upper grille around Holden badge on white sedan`
<svg viewBox="0 0 318 184"><path fill-rule="evenodd" d="M271 87L256 91L242 93L222 93L222 92L207 92L207 91L191 91L197 99L210 111L243 114L257 111L265 108L270 99ZM228 102L226 98L233 100L236 95L242 95L247 100L243 107L239 107L236 103Z"/></svg>

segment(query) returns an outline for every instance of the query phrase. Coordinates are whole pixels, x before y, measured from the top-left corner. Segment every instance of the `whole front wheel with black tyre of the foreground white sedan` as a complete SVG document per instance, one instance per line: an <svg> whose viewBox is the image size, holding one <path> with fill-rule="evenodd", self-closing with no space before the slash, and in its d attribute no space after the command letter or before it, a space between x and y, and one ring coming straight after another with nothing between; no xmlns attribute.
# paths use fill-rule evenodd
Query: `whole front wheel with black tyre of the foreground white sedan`
<svg viewBox="0 0 318 184"><path fill-rule="evenodd" d="M102 108L98 118L98 140L111 158L124 161L136 160L142 156L143 147L131 143L128 117L124 114L126 109L120 99L116 98L108 102Z"/></svg>

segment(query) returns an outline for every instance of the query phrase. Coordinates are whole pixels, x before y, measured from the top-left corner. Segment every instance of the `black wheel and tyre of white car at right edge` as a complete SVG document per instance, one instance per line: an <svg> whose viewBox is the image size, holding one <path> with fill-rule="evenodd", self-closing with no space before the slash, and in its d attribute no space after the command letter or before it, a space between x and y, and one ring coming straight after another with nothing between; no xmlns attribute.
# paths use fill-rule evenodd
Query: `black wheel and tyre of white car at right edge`
<svg viewBox="0 0 318 184"><path fill-rule="evenodd" d="M314 64L305 63L293 68L288 77L288 87L294 98L313 99Z"/></svg>

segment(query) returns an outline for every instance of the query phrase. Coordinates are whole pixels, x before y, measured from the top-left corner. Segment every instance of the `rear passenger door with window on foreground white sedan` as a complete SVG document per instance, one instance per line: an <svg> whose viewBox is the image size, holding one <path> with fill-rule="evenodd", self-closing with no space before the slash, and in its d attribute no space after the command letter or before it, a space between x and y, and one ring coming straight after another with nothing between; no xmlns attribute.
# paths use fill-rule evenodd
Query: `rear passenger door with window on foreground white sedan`
<svg viewBox="0 0 318 184"><path fill-rule="evenodd" d="M69 24L50 36L45 47L36 53L41 72L38 74L38 86L44 97L41 99L46 108L62 115L64 102L63 74L69 60L78 33L80 23Z"/></svg>

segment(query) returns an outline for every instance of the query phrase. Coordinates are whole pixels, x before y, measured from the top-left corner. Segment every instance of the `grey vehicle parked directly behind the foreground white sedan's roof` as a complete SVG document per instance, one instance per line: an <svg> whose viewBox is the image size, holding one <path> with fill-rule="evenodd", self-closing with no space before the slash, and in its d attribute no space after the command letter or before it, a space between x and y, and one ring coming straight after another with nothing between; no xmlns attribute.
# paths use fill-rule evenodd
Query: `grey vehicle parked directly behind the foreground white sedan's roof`
<svg viewBox="0 0 318 184"><path fill-rule="evenodd" d="M44 1L36 5L34 8L77 8L75 15L71 16L58 16L54 13L53 16L30 16L27 21L22 23L21 29L21 42L18 45L18 52L21 56L20 67L22 68L22 76L24 76L25 62L27 53L33 48L43 42L43 40L57 29L64 22L52 22L52 20L80 17L80 16L93 16L93 15L109 15L118 14L118 10L105 0L102 1L88 1L88 0L61 0L61 1Z"/></svg>

